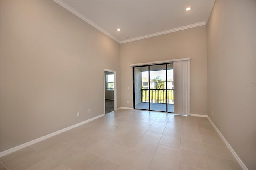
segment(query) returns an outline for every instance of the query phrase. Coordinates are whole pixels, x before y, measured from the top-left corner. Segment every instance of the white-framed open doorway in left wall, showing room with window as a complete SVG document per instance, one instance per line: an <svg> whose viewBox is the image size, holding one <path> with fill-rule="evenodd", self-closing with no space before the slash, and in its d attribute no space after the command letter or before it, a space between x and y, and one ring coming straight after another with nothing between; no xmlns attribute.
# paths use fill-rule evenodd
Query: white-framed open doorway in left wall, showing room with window
<svg viewBox="0 0 256 170"><path fill-rule="evenodd" d="M116 71L104 69L104 113L116 110Z"/></svg>

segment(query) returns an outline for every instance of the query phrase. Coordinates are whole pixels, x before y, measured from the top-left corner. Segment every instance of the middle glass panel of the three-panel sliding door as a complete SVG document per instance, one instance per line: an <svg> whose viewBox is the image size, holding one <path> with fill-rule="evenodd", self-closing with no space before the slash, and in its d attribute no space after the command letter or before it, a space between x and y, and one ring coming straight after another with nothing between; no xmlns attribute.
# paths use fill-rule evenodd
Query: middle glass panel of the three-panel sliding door
<svg viewBox="0 0 256 170"><path fill-rule="evenodd" d="M166 64L149 66L150 110L166 112Z"/></svg>

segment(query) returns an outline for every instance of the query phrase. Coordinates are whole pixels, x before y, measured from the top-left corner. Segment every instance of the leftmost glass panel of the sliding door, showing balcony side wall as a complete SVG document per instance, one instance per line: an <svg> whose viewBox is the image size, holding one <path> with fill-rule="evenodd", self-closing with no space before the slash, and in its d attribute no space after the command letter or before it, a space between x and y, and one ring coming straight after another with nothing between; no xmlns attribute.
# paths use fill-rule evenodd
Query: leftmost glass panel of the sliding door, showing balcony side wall
<svg viewBox="0 0 256 170"><path fill-rule="evenodd" d="M134 109L149 110L148 66L134 67Z"/></svg>

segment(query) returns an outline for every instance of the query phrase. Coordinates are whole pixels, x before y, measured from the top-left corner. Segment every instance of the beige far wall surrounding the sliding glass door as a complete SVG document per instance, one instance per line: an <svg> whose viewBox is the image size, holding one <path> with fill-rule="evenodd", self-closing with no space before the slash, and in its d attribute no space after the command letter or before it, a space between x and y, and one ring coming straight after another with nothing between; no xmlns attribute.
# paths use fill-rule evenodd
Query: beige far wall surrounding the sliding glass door
<svg viewBox="0 0 256 170"><path fill-rule="evenodd" d="M191 58L191 113L207 114L206 26L121 44L122 107L133 107L130 64ZM127 87L130 87L128 90ZM130 102L127 103L127 100Z"/></svg>

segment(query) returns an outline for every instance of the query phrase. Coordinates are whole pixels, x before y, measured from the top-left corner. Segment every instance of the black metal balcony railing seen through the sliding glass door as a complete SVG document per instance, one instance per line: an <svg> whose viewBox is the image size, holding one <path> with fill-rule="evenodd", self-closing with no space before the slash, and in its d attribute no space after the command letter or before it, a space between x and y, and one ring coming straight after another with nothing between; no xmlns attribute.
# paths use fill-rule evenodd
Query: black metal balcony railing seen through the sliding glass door
<svg viewBox="0 0 256 170"><path fill-rule="evenodd" d="M149 93L150 92L150 103L164 103L164 104L174 104L173 103L173 89L142 89L141 90L141 102L149 103ZM166 96L167 93L167 96Z"/></svg>

